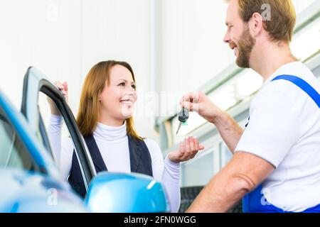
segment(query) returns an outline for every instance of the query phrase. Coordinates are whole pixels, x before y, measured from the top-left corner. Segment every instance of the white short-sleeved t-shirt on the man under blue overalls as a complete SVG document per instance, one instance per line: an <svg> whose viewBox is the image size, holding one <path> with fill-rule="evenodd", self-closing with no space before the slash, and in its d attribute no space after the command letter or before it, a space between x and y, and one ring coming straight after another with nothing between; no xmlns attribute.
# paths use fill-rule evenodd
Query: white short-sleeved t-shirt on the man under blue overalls
<svg viewBox="0 0 320 227"><path fill-rule="evenodd" d="M235 151L274 165L262 184L265 199L284 211L301 212L320 204L320 109L296 84L271 82L282 74L300 77L320 93L318 79L301 62L280 67L252 100Z"/></svg>

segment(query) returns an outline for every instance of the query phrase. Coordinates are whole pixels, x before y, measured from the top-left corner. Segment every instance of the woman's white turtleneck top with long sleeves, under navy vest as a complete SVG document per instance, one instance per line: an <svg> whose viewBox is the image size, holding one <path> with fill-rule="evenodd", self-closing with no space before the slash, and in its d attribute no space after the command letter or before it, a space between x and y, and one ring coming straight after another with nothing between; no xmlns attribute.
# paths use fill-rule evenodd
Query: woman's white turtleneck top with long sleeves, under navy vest
<svg viewBox="0 0 320 227"><path fill-rule="evenodd" d="M48 136L51 142L55 162L57 162L64 179L68 179L73 159L73 140L63 138L61 140L61 128L63 117L51 115L48 127ZM93 137L110 172L131 172L127 126L106 126L97 123ZM159 145L148 138L144 139L146 147L151 155L152 172L154 179L164 184L171 204L171 211L177 212L180 206L180 164L171 162L163 157Z"/></svg>

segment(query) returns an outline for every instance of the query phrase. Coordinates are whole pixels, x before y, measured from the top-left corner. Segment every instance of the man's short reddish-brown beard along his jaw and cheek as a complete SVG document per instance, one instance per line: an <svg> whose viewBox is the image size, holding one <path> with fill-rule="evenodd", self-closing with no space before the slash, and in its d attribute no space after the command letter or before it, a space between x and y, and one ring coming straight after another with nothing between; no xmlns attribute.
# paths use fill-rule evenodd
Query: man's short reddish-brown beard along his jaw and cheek
<svg viewBox="0 0 320 227"><path fill-rule="evenodd" d="M241 68L250 68L250 55L255 45L255 39L250 35L249 28L242 32L238 41L239 55L235 63Z"/></svg>

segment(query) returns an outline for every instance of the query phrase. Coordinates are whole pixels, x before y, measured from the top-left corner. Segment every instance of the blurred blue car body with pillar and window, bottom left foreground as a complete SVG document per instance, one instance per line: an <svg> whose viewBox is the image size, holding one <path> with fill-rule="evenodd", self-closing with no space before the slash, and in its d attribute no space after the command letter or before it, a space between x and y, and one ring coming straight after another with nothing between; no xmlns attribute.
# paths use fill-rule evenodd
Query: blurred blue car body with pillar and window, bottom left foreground
<svg viewBox="0 0 320 227"><path fill-rule="evenodd" d="M86 212L26 118L0 91L0 213ZM58 202L59 201L59 202Z"/></svg>

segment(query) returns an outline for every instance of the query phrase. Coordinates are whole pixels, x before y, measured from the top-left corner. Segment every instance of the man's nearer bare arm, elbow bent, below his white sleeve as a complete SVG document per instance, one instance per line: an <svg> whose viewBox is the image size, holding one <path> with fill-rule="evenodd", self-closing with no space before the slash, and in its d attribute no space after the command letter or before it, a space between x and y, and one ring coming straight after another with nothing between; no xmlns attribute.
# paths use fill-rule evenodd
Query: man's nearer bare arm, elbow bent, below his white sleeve
<svg viewBox="0 0 320 227"><path fill-rule="evenodd" d="M256 155L237 152L196 197L186 212L227 212L251 192L274 166Z"/></svg>

